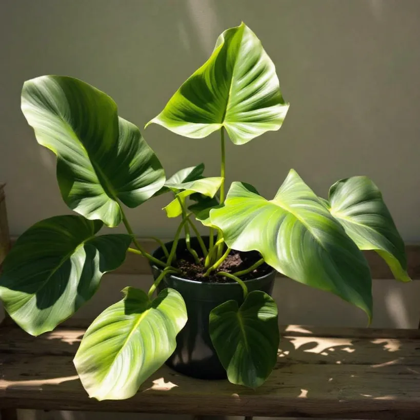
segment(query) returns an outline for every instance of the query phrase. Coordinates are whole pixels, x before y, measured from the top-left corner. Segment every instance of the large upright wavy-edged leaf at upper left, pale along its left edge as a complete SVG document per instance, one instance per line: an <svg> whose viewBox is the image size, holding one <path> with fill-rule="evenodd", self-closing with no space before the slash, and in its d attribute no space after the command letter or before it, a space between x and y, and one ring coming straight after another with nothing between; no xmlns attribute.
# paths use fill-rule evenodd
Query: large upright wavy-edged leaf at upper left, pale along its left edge
<svg viewBox="0 0 420 420"><path fill-rule="evenodd" d="M66 76L25 82L22 111L38 143L57 155L66 204L88 219L117 226L119 202L136 207L165 183L161 163L138 128L119 118L105 93Z"/></svg>

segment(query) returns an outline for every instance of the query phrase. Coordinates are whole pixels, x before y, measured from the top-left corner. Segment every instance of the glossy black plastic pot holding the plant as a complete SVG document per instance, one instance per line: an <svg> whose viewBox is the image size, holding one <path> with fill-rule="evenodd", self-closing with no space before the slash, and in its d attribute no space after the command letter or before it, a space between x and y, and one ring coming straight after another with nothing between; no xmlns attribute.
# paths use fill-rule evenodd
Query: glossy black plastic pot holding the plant
<svg viewBox="0 0 420 420"><path fill-rule="evenodd" d="M208 237L203 237L208 243ZM196 238L191 238L191 245L198 252ZM172 242L166 247L171 249ZM185 248L184 239L178 242L178 249ZM164 256L162 248L158 248L153 256L161 259ZM156 279L162 272L161 268L152 265L153 276ZM276 271L247 280L248 290L262 290L271 294ZM177 277L166 276L158 286L158 291L170 287L177 290L184 298L187 306L188 321L176 337L176 349L166 364L179 373L199 379L224 379L226 371L219 362L209 335L209 315L216 306L235 300L243 302L243 291L237 283L203 283Z"/></svg>

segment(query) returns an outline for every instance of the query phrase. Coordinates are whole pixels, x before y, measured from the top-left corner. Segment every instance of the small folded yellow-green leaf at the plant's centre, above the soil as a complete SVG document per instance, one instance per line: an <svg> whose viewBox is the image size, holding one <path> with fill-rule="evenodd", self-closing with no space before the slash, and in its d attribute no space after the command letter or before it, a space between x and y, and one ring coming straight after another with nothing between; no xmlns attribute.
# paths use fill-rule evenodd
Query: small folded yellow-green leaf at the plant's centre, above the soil
<svg viewBox="0 0 420 420"><path fill-rule="evenodd" d="M207 197L214 197L219 190L222 181L222 177L214 176L210 178L197 179L197 181L176 184L178 187L181 187L179 189L182 189L182 191L177 193L175 199L164 207L166 215L168 217L178 217L181 215L182 207L180 201L183 203L185 199L193 193L198 192Z"/></svg>

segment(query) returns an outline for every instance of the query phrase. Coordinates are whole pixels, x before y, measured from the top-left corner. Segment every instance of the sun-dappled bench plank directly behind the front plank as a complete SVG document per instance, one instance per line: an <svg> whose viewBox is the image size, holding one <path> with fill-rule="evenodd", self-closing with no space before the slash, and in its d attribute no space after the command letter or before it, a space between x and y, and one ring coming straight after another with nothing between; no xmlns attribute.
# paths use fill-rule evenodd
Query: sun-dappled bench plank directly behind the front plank
<svg viewBox="0 0 420 420"><path fill-rule="evenodd" d="M86 323L87 324L87 323ZM398 364L420 366L420 331L399 330L400 338L377 337L366 329L341 329L342 336L331 336L328 328L282 327L279 364ZM386 331L386 330L384 330ZM394 330L389 330L391 335ZM395 330L398 331L398 330ZM404 335L404 332L407 334ZM74 355L85 329L56 329L32 337L8 326L0 328L0 353L33 355ZM347 335L343 334L348 332ZM361 334L364 333L362 336ZM410 336L412 333L412 336ZM396 334L394 334L396 335Z"/></svg>

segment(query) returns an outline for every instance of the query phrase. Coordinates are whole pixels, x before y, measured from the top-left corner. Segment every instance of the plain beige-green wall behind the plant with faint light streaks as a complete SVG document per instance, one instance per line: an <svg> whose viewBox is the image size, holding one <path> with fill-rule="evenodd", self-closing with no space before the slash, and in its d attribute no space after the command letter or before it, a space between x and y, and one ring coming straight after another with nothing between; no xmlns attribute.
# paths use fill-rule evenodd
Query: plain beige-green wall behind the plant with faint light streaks
<svg viewBox="0 0 420 420"><path fill-rule="evenodd" d="M26 79L53 73L82 78L143 127L204 63L217 35L241 21L276 64L291 108L281 131L241 147L228 144L229 181L250 182L269 197L293 167L325 195L338 178L366 174L382 189L405 240L418 241L417 0L1 0L0 181L8 183L11 233L68 212L56 186L55 160L36 144L19 110ZM157 126L144 134L168 174L204 161L207 174L217 175L217 136L185 139ZM174 232L163 205L165 197L159 197L128 212L139 236ZM149 282L109 275L78 316L95 316L119 299L122 287ZM282 323L365 325L356 309L292 281L278 283L274 294ZM416 326L420 284L375 281L374 294L374 325Z"/></svg>

